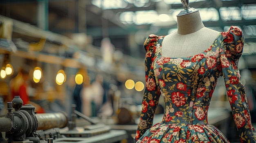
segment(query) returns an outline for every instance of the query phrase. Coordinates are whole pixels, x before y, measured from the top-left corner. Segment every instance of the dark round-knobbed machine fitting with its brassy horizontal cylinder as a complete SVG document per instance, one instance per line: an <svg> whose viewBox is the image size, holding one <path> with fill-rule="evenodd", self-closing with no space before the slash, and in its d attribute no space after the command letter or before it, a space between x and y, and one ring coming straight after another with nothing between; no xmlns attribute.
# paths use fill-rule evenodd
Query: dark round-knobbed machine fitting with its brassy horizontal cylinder
<svg viewBox="0 0 256 143"><path fill-rule="evenodd" d="M36 130L51 128L64 128L69 117L65 112L36 114L35 107L26 104L15 96L11 102L7 102L8 113L0 118L0 132L5 132L5 138L0 136L1 142L40 143ZM14 108L15 111L12 112Z"/></svg>

